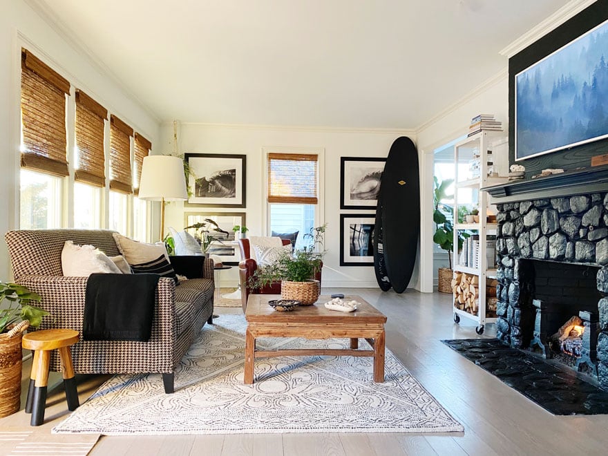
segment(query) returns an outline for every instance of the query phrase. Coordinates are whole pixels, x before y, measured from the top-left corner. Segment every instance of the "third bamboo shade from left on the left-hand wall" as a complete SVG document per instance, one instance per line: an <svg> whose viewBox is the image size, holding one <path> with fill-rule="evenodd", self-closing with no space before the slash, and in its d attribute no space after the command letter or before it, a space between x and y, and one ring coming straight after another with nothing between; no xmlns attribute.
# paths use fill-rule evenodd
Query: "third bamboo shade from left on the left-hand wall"
<svg viewBox="0 0 608 456"><path fill-rule="evenodd" d="M133 129L115 115L110 116L110 189L133 192L131 175Z"/></svg>

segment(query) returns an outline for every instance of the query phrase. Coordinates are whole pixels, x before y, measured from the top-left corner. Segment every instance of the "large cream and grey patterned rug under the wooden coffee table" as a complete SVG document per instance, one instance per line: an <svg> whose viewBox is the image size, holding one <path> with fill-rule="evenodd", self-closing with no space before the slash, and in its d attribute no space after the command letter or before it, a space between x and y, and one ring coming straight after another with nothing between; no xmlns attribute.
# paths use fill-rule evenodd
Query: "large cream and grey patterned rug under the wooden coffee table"
<svg viewBox="0 0 608 456"><path fill-rule="evenodd" d="M463 426L386 351L384 383L367 357L258 359L243 384L245 317L205 325L175 372L117 375L53 429L103 435L462 432ZM258 348L348 348L348 339L258 339ZM361 345L367 345L361 341Z"/></svg>

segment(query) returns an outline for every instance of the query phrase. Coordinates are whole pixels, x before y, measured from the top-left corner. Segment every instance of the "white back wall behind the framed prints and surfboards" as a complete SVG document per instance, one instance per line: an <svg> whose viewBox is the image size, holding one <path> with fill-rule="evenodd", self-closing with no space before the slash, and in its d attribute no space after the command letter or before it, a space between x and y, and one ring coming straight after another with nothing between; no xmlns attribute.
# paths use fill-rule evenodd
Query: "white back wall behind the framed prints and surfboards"
<svg viewBox="0 0 608 456"><path fill-rule="evenodd" d="M164 153L173 151L173 124L162 126ZM180 153L238 153L247 155L247 227L249 235L263 235L263 207L265 205L265 165L262 148L314 148L325 151L324 211L327 222L324 258L324 287L377 287L373 267L340 267L340 213L371 213L340 209L340 158L386 157L392 142L408 131L336 131L330 129L288 129L264 126L222 126L209 124L180 124L178 142ZM191 211L191 208L187 208ZM205 210L201 208L201 210ZM217 209L208 209L217 211ZM234 209L232 211L239 211ZM167 205L165 226L181 229L184 226L182 203ZM222 286L236 285L236 267L222 272ZM418 268L410 287L419 287Z"/></svg>

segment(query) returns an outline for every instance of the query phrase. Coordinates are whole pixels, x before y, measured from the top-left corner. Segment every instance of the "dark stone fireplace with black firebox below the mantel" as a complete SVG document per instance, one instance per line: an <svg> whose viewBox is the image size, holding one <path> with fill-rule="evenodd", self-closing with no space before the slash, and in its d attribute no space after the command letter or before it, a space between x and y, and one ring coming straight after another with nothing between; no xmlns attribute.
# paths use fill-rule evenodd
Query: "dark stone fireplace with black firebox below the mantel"
<svg viewBox="0 0 608 456"><path fill-rule="evenodd" d="M547 339L572 316L585 317L578 326L586 331L584 356L577 352L569 364L608 388L608 193L603 188L538 199L527 193L497 204L496 327L503 343L556 357Z"/></svg>

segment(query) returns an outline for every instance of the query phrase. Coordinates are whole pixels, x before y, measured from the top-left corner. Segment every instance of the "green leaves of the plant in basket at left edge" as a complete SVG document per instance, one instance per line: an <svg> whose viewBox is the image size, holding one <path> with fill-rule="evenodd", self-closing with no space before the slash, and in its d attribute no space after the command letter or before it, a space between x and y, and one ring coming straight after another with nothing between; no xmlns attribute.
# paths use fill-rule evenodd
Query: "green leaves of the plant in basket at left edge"
<svg viewBox="0 0 608 456"><path fill-rule="evenodd" d="M8 303L6 307L5 301ZM30 326L38 327L46 310L30 305L31 301L41 301L39 294L16 283L0 282L0 333L7 332L11 325L29 320Z"/></svg>

